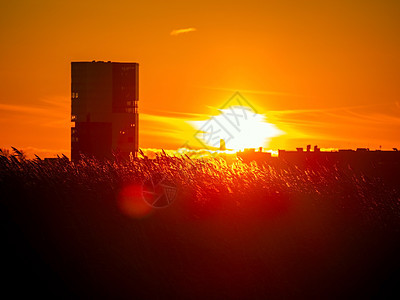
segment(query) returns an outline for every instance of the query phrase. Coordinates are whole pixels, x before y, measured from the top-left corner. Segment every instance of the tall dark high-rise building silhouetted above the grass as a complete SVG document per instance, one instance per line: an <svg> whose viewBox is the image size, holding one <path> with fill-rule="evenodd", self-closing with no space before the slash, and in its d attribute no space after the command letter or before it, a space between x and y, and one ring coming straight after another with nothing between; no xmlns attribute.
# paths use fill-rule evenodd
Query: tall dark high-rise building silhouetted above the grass
<svg viewBox="0 0 400 300"><path fill-rule="evenodd" d="M71 159L136 156L139 64L71 63Z"/></svg>

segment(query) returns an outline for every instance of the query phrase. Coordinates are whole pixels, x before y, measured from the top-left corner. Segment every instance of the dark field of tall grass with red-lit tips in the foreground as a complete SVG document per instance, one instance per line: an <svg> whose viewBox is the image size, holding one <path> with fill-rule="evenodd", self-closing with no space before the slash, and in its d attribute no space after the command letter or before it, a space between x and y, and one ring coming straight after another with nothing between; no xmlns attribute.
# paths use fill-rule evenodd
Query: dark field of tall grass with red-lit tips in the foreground
<svg viewBox="0 0 400 300"><path fill-rule="evenodd" d="M13 298L400 295L392 174L168 157L128 165L2 157L0 172L1 285ZM138 208L139 193L127 210L120 191L157 174L178 187L172 205Z"/></svg>

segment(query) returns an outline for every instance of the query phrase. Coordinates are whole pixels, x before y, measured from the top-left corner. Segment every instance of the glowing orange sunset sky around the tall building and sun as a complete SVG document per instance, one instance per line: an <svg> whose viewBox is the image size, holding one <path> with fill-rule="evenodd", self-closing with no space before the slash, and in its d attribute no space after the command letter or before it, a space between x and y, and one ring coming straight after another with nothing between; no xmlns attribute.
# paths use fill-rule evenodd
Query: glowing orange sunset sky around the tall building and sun
<svg viewBox="0 0 400 300"><path fill-rule="evenodd" d="M400 148L399 1L2 1L0 14L0 147L69 155L70 62L111 60L140 64L142 148L180 147L187 121L235 91L285 133L268 148Z"/></svg>

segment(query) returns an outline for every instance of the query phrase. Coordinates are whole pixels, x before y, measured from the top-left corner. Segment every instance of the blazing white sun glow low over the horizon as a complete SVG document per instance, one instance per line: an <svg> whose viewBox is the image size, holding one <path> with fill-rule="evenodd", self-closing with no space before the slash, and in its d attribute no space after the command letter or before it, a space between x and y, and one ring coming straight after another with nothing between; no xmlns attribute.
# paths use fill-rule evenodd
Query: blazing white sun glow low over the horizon
<svg viewBox="0 0 400 300"><path fill-rule="evenodd" d="M192 122L199 130L197 138L206 146L219 148L223 139L227 149L268 147L271 138L283 134L249 107L231 106L219 112L208 120Z"/></svg>

